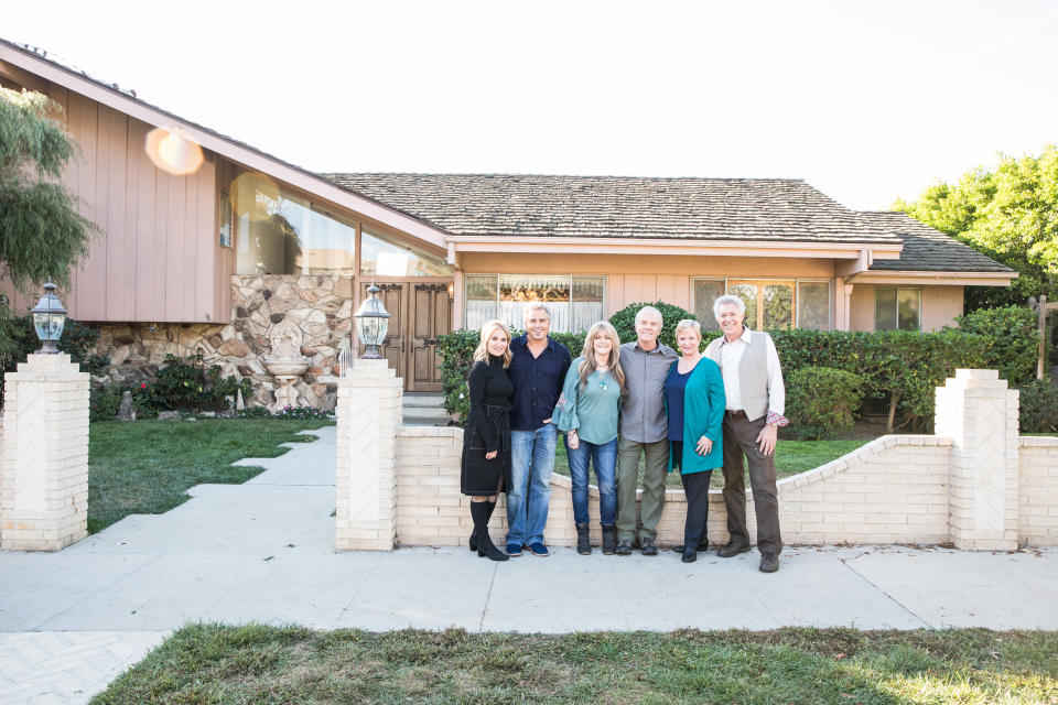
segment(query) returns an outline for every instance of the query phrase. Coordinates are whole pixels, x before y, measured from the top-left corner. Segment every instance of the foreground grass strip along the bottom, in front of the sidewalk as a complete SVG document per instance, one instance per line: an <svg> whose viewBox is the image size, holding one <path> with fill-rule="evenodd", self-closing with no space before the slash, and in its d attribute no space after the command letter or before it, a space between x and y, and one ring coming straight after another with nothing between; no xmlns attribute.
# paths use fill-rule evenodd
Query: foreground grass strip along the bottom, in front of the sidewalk
<svg viewBox="0 0 1058 705"><path fill-rule="evenodd" d="M181 629L93 705L1058 702L1058 632Z"/></svg>

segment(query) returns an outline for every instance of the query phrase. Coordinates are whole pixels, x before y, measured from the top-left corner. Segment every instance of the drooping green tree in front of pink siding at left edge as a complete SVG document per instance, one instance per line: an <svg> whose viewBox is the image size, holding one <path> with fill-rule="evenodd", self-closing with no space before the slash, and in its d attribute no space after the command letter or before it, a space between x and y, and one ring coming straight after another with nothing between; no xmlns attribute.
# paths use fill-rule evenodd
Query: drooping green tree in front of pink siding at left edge
<svg viewBox="0 0 1058 705"><path fill-rule="evenodd" d="M60 183L76 144L50 115L62 107L37 93L0 88L0 263L18 288L69 283L98 227Z"/></svg>

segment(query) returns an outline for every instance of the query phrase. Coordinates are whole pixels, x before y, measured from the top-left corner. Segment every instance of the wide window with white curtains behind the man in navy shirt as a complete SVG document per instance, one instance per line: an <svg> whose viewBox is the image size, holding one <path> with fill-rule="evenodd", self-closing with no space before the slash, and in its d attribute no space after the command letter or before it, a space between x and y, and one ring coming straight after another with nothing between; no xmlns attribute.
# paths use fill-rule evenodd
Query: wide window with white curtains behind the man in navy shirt
<svg viewBox="0 0 1058 705"><path fill-rule="evenodd" d="M467 274L465 327L473 330L490 318L521 328L526 303L540 301L551 311L551 330L587 330L603 319L605 278L569 274Z"/></svg>

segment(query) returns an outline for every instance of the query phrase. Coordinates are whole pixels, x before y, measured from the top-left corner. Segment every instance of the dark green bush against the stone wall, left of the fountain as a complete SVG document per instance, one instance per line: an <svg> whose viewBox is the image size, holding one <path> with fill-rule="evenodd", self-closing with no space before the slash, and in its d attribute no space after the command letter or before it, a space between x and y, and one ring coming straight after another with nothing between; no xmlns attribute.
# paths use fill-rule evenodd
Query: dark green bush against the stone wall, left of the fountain
<svg viewBox="0 0 1058 705"><path fill-rule="evenodd" d="M137 408L144 413L224 411L228 397L241 391L246 398L252 391L249 378L220 377L219 365L206 369L201 352L186 360L166 355L164 362L153 380L132 390Z"/></svg>

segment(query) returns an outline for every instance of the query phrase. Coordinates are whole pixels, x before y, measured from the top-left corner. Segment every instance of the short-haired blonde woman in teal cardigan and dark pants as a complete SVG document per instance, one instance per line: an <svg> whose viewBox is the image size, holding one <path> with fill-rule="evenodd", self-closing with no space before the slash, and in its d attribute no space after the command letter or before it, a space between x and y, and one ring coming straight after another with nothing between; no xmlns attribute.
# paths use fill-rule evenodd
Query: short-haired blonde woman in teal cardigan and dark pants
<svg viewBox="0 0 1058 705"><path fill-rule="evenodd" d="M676 344L680 359L672 364L665 380L665 403L669 414L669 470L680 469L687 495L687 522L683 545L677 551L684 563L698 560L709 540L709 480L713 469L724 464L724 380L720 368L703 357L702 328L698 321L684 318L676 324Z"/></svg>

